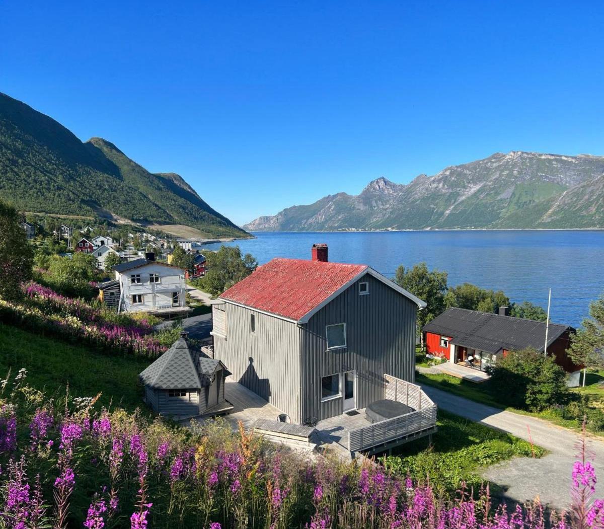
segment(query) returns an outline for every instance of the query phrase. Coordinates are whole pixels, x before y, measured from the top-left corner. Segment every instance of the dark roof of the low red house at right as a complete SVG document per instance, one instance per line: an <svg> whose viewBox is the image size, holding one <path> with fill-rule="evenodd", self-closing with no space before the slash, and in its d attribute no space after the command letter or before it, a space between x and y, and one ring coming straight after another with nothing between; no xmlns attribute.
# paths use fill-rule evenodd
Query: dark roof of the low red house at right
<svg viewBox="0 0 604 529"><path fill-rule="evenodd" d="M568 325L550 323L547 335L549 346L566 330ZM499 353L534 347L543 350L545 345L545 322L532 319L513 318L477 310L447 309L440 316L424 325L424 332L451 338L461 347L469 347Z"/></svg>

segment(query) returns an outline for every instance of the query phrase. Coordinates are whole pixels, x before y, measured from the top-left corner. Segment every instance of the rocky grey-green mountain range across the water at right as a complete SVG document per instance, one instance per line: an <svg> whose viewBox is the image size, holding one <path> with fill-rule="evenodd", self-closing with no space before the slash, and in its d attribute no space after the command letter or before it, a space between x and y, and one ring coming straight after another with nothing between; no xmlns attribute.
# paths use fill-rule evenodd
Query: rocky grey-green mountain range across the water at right
<svg viewBox="0 0 604 529"><path fill-rule="evenodd" d="M378 178L243 226L248 231L604 228L604 156L513 151L409 184Z"/></svg>

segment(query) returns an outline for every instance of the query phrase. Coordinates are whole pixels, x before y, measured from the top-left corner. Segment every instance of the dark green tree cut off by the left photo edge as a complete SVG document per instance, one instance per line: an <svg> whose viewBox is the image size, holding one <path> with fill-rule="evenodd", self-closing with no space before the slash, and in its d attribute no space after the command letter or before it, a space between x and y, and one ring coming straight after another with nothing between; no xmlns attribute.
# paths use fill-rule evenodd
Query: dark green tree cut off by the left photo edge
<svg viewBox="0 0 604 529"><path fill-rule="evenodd" d="M21 228L21 216L0 200L0 297L21 297L21 282L31 277L33 248Z"/></svg>

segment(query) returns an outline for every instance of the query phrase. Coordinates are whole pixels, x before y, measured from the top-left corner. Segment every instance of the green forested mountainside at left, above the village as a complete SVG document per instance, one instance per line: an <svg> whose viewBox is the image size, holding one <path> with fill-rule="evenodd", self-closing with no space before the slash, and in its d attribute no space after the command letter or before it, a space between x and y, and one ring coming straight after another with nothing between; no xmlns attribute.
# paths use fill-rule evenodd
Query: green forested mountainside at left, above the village
<svg viewBox="0 0 604 529"><path fill-rule="evenodd" d="M148 172L102 138L83 143L47 115L0 93L0 197L21 211L185 225L245 237L175 173Z"/></svg>

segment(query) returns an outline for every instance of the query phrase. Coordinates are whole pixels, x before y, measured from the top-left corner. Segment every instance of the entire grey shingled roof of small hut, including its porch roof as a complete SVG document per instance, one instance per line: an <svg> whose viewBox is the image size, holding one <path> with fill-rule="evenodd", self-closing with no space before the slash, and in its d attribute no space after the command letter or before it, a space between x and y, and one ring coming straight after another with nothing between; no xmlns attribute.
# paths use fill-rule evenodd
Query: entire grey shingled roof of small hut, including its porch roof
<svg viewBox="0 0 604 529"><path fill-rule="evenodd" d="M139 377L145 385L159 390L200 389L210 383L210 377L219 365L225 374L230 374L222 362L206 356L191 347L186 339L179 338Z"/></svg>

